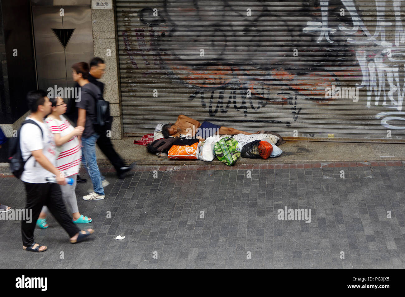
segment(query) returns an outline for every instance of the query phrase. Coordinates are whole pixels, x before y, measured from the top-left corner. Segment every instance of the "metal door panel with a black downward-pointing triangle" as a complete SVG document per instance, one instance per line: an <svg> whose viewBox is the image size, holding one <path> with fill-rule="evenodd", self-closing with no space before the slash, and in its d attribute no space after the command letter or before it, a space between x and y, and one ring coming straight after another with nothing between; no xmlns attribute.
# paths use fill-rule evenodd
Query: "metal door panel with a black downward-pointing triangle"
<svg viewBox="0 0 405 297"><path fill-rule="evenodd" d="M32 14L38 87L72 87L71 66L94 56L90 6L33 6ZM75 29L66 48L52 29Z"/></svg>

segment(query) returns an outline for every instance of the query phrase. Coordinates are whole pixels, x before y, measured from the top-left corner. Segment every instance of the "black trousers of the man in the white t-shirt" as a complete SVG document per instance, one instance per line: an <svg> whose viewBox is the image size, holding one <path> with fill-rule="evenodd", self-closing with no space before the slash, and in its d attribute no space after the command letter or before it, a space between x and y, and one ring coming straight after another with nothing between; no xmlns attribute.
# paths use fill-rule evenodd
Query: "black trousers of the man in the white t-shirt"
<svg viewBox="0 0 405 297"><path fill-rule="evenodd" d="M72 222L72 216L68 214L66 206L62 199L62 191L58 184L45 182L42 184L33 184L24 182L27 201L26 209L32 209L32 221L21 221L21 235L24 246L31 246L34 243L34 229L36 220L38 220L42 207L46 205L55 217L56 221L69 234L69 238L73 237L80 229Z"/></svg>

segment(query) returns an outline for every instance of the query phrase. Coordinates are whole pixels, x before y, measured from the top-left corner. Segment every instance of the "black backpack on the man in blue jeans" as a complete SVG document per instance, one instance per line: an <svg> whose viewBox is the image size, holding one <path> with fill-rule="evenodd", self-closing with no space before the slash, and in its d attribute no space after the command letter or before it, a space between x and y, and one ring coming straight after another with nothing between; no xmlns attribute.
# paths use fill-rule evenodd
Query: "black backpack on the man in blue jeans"
<svg viewBox="0 0 405 297"><path fill-rule="evenodd" d="M97 134L102 135L106 133L107 130L111 130L113 117L110 116L110 102L105 101L101 93L95 94L89 88L84 87L81 91L89 93L95 100L96 118L93 121L94 131Z"/></svg>

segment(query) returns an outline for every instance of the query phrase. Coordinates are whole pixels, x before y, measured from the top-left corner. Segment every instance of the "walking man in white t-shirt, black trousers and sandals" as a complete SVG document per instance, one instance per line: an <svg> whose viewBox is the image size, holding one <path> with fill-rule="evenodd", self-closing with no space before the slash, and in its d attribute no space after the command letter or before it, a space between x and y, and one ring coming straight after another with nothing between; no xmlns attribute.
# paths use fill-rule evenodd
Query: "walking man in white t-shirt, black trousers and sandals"
<svg viewBox="0 0 405 297"><path fill-rule="evenodd" d="M34 242L36 221L44 205L69 234L70 242L80 242L94 230L80 231L70 219L62 200L60 185L63 187L66 181L64 174L55 167L55 141L43 120L51 112L47 94L42 90L30 91L27 101L31 114L26 119L35 121L42 132L37 125L26 123L21 127L19 135L22 157L27 161L21 175L27 193L26 209L32 209L31 223L21 221L21 234L23 250L44 252L47 246ZM46 179L52 177L56 178L57 183L47 182Z"/></svg>

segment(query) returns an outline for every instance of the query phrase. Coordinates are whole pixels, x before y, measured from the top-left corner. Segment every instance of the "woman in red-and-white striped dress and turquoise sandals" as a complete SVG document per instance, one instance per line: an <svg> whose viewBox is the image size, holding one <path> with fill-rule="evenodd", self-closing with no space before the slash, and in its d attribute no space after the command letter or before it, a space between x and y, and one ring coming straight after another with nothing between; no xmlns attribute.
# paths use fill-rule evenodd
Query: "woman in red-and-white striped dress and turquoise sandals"
<svg viewBox="0 0 405 297"><path fill-rule="evenodd" d="M77 136L83 133L83 127L72 127L69 121L62 115L66 112L66 103L60 97L57 99L49 99L52 103L52 112L45 119L49 129L55 138L57 148L56 167L64 173L67 178L74 180L73 185L65 185L60 187L65 203L72 210L73 223L90 223L91 218L80 214L76 200L76 178L79 173L81 162L81 146ZM43 207L36 225L42 229L46 229L48 224L46 216L48 209Z"/></svg>

